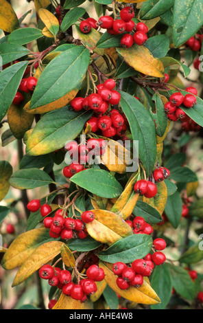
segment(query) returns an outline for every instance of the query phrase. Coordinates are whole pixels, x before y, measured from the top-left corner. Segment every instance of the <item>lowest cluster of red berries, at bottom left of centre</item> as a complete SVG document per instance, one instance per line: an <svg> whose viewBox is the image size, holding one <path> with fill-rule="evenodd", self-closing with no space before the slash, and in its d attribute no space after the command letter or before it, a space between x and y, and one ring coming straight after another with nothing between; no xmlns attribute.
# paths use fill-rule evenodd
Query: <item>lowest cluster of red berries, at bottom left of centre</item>
<svg viewBox="0 0 203 323"><path fill-rule="evenodd" d="M84 302L87 296L97 291L95 282L104 280L104 269L98 265L91 265L86 270L87 278L81 279L80 283L75 284L72 281L71 272L67 269L43 265L39 270L40 278L48 280L49 285L62 290L64 295L70 296L73 300ZM56 300L50 304L50 307L56 304ZM51 308L52 308L51 307Z"/></svg>

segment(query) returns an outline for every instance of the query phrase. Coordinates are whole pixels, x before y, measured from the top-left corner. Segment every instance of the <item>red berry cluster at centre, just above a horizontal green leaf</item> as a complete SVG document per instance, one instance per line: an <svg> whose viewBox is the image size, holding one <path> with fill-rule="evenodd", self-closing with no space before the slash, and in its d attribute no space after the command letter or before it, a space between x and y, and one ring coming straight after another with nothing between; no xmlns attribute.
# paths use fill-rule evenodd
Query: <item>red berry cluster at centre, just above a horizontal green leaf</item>
<svg viewBox="0 0 203 323"><path fill-rule="evenodd" d="M106 142L104 139L90 138L86 144L78 145L77 142L68 142L65 145L65 151L68 151L71 157L71 164L65 166L63 174L67 178L71 178L77 172L84 170L84 164L93 164L96 157L104 155Z"/></svg>

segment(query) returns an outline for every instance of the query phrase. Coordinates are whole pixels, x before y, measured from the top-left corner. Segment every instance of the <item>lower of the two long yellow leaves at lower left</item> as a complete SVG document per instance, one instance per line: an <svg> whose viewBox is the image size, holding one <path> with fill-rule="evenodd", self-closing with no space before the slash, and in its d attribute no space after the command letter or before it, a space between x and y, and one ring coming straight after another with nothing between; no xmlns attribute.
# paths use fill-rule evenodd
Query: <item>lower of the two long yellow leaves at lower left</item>
<svg viewBox="0 0 203 323"><path fill-rule="evenodd" d="M21 265L17 272L12 287L24 282L36 270L40 269L50 260L60 254L60 249L64 243L61 241L49 241L40 245Z"/></svg>

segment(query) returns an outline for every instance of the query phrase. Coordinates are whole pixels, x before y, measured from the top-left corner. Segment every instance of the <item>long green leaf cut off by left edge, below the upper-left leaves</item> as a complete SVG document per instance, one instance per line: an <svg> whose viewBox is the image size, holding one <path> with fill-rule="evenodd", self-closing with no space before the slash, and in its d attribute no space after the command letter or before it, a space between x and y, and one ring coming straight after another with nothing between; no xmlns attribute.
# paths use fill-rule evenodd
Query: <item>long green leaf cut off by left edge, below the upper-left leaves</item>
<svg viewBox="0 0 203 323"><path fill-rule="evenodd" d="M16 63L0 73L0 121L14 100L28 62Z"/></svg>

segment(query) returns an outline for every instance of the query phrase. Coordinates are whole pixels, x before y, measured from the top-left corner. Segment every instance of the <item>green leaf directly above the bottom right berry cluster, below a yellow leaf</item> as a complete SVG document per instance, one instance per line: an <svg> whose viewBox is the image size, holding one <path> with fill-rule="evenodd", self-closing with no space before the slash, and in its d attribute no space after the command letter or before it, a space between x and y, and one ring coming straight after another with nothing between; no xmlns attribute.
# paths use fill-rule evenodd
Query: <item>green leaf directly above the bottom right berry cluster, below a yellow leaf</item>
<svg viewBox="0 0 203 323"><path fill-rule="evenodd" d="M132 263L146 256L152 248L152 237L147 234L134 234L117 241L108 249L99 252L99 259L107 263Z"/></svg>

